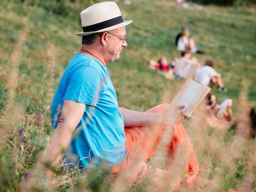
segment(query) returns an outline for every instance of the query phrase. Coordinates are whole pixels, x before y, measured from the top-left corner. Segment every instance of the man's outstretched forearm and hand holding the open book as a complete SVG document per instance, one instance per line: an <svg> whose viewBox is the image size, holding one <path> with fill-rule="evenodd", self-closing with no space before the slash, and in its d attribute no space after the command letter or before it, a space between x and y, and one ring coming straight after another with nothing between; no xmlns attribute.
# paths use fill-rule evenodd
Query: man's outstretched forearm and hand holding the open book
<svg viewBox="0 0 256 192"><path fill-rule="evenodd" d="M184 106L169 107L164 112L139 112L119 107L124 117L124 127L145 127L150 125L176 125L184 119L181 109Z"/></svg>

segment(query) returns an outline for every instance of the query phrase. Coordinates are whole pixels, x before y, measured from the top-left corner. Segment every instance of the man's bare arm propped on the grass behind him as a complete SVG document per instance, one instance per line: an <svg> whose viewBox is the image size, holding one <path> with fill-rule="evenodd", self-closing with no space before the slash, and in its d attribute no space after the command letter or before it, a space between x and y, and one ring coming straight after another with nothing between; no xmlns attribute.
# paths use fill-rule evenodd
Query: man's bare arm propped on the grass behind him
<svg viewBox="0 0 256 192"><path fill-rule="evenodd" d="M63 151L69 145L73 131L82 119L84 112L85 104L69 100L64 101L58 126L51 136L45 154L43 154L43 161L50 162L53 166L61 161Z"/></svg>

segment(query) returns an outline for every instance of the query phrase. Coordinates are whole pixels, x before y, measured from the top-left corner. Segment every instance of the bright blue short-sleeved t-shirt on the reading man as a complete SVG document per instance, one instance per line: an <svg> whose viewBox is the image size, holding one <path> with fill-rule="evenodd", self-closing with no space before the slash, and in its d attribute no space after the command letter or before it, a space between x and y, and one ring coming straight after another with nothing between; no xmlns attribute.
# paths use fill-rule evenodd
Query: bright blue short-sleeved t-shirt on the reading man
<svg viewBox="0 0 256 192"><path fill-rule="evenodd" d="M87 167L90 162L110 167L126 158L124 119L108 68L86 54L75 54L62 75L52 105L52 125L58 125L64 100L86 105L66 152L69 162ZM70 154L69 154L70 153Z"/></svg>

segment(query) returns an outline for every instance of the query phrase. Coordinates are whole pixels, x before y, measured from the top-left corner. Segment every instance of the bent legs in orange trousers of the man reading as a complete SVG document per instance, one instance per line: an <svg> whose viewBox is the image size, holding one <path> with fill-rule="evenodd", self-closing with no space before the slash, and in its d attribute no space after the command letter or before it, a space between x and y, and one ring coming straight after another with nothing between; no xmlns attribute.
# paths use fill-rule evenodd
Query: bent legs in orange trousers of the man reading
<svg viewBox="0 0 256 192"><path fill-rule="evenodd" d="M163 112L168 109L169 104L160 104L156 107L151 108L147 112ZM164 131L163 125L158 125L156 127L133 127L125 128L126 131L126 150L127 159L121 164L115 166L115 171L119 169L133 170L130 175L130 182L135 182L137 179L144 177L144 175L150 170L150 165L145 163L153 154L155 154L156 148L161 139L162 133ZM197 162L197 157L195 156L192 144L190 143L189 137L182 124L175 125L173 131L173 139L169 145L169 158L173 159L176 155L177 149L179 147L186 148L186 165L184 171L188 174L193 172L197 174L199 171L199 166ZM128 172L128 171L127 171ZM168 174L171 170L166 171L162 169L155 170L155 177L159 175ZM155 178L152 178L153 180ZM189 182L189 181L188 181Z"/></svg>

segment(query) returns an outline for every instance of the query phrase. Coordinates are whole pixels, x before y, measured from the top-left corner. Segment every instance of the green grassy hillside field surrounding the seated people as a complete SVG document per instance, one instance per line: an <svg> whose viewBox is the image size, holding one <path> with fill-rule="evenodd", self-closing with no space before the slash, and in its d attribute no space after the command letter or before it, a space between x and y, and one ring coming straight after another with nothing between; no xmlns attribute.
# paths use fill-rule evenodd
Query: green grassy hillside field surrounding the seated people
<svg viewBox="0 0 256 192"><path fill-rule="evenodd" d="M134 20L126 28L128 47L108 65L120 106L145 111L171 101L182 80L164 78L148 69L147 61L179 57L174 38L186 25L198 48L206 52L195 55L200 64L213 59L228 88L213 91L220 101L233 99L234 116L248 130L247 110L256 106L254 9L182 9L167 0L134 0L119 7L124 19ZM81 40L74 35L81 31L79 14L71 20L40 7L0 2L0 191L107 191L108 186L78 170L58 170L47 178L35 168L51 135L51 99L69 59L80 48ZM197 152L200 177L218 183L220 191L256 191L254 140L216 131L200 118L184 124ZM32 176L34 180L27 179ZM150 191L151 185L143 184L124 189Z"/></svg>

